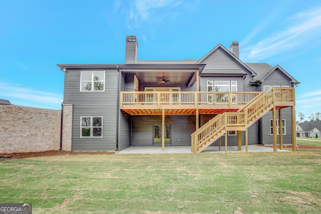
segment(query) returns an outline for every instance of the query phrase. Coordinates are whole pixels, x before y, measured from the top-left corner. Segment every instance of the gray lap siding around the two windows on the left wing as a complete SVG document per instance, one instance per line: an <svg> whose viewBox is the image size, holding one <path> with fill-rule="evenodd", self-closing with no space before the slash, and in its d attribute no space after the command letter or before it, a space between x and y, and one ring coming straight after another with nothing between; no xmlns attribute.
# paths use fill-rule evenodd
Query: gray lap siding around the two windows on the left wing
<svg viewBox="0 0 321 214"><path fill-rule="evenodd" d="M73 104L72 150L116 150L117 121L117 70L105 71L104 92L80 92L80 70L68 70L66 75L65 103ZM80 137L80 117L103 117L101 138Z"/></svg>

